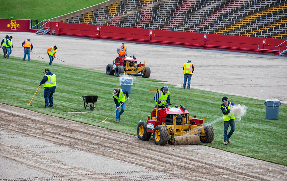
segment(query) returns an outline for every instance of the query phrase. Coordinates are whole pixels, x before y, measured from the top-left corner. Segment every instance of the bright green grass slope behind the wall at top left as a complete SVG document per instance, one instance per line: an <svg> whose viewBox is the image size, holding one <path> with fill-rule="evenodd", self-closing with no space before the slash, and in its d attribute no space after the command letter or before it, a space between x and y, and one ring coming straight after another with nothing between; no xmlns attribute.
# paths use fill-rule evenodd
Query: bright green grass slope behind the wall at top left
<svg viewBox="0 0 287 181"><path fill-rule="evenodd" d="M48 20L79 9L90 7L104 0L86 1L1 1L0 18L28 19L28 20Z"/></svg>

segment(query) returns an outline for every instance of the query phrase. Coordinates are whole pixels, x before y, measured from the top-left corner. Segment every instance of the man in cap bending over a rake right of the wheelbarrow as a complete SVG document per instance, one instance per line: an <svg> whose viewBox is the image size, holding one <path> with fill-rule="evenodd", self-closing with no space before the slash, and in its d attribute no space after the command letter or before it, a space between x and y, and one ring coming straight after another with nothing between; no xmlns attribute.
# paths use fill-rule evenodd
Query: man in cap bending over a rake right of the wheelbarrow
<svg viewBox="0 0 287 181"><path fill-rule="evenodd" d="M121 90L121 89L114 89L113 91L113 98L116 104L116 123L118 123L121 120L121 115L125 111L125 95L127 96L127 99L129 99L129 92L127 90ZM122 104L123 103L123 104ZM121 106L121 111L119 112L119 106Z"/></svg>

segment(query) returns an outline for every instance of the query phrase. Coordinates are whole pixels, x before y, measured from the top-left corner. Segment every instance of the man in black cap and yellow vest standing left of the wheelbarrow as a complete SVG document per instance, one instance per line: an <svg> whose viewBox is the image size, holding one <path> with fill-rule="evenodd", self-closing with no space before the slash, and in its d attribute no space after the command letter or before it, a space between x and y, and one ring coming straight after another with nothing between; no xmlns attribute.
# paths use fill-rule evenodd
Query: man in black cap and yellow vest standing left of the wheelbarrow
<svg viewBox="0 0 287 181"><path fill-rule="evenodd" d="M41 80L40 85L43 84L44 90L44 99L45 99L45 108L53 107L53 94L56 90L56 75L53 74L49 69L45 69L45 76ZM50 103L50 105L49 105Z"/></svg>

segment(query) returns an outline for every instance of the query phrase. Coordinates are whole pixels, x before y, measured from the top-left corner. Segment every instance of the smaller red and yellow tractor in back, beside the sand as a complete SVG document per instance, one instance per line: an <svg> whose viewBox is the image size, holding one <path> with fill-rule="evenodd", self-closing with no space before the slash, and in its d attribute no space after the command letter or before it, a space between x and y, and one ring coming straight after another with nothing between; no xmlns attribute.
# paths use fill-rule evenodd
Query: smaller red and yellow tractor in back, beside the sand
<svg viewBox="0 0 287 181"><path fill-rule="evenodd" d="M118 77L122 73L149 78L150 68L145 65L145 62L137 63L137 59L135 56L117 57L113 61L113 64L108 64L106 66L107 75L115 74L115 76Z"/></svg>

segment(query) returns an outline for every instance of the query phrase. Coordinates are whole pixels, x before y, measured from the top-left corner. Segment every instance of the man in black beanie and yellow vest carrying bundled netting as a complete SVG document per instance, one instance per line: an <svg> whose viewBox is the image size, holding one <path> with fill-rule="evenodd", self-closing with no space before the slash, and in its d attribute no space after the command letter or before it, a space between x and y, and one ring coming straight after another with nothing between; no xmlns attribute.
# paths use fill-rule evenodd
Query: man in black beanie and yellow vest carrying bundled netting
<svg viewBox="0 0 287 181"><path fill-rule="evenodd" d="M224 96L222 98L222 104L220 105L220 108L223 114L223 120L224 120L224 132L223 132L223 144L224 145L227 145L227 143L230 143L229 138L235 130L235 123L234 123L235 116L233 113L230 113L230 109L232 108L232 106L235 106L235 104L233 102L227 101L227 99L228 98ZM227 130L228 130L229 125L230 125L230 132L227 135Z"/></svg>

